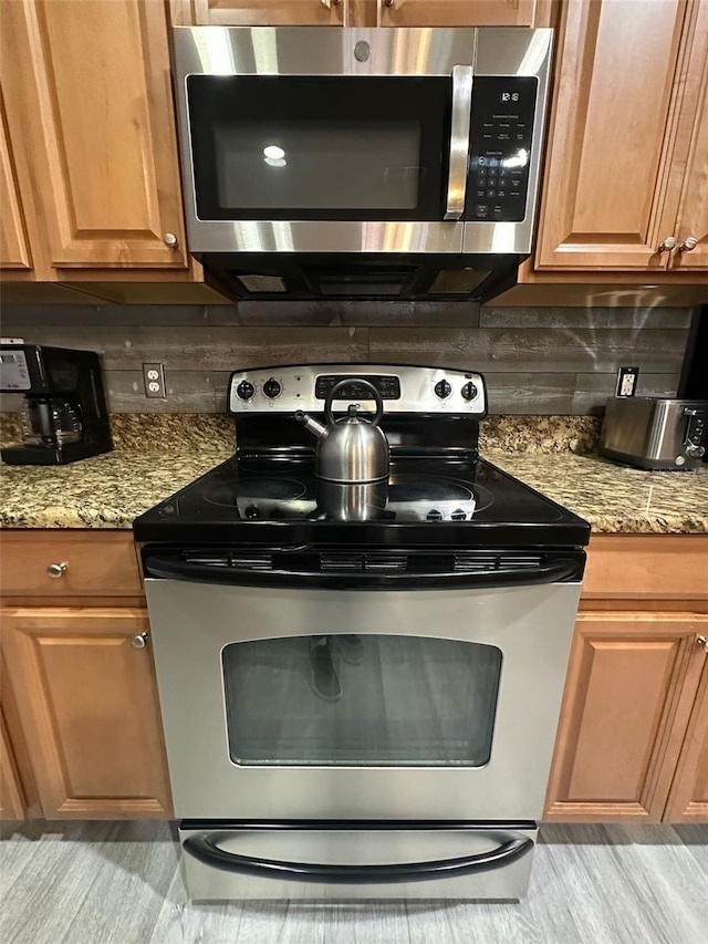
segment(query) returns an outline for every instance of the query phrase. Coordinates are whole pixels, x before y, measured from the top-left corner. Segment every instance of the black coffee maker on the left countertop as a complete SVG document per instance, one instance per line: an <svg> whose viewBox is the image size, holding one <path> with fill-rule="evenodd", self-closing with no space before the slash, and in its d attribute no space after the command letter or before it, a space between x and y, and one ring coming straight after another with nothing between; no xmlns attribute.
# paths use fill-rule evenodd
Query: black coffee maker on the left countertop
<svg viewBox="0 0 708 944"><path fill-rule="evenodd" d="M0 344L0 393L24 394L23 442L0 450L9 465L66 465L113 448L95 351Z"/></svg>

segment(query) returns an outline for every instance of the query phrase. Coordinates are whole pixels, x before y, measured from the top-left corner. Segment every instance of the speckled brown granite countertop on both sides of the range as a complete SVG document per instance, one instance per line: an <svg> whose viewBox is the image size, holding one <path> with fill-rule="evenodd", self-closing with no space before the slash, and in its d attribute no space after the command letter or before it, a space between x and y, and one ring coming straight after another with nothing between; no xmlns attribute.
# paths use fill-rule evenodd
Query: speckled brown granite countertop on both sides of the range
<svg viewBox="0 0 708 944"><path fill-rule="evenodd" d="M13 425L14 424L14 425ZM708 532L708 466L647 473L598 458L593 417L490 417L481 453L606 533ZM0 470L0 526L125 528L233 454L227 416L117 415L115 450L69 466ZM0 442L14 438L0 415Z"/></svg>

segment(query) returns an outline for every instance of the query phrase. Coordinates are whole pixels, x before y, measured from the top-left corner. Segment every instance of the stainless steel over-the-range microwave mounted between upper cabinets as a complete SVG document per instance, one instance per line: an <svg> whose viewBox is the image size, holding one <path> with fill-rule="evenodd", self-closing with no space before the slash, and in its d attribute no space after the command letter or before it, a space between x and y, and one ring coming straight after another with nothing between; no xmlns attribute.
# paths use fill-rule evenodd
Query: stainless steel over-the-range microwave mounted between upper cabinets
<svg viewBox="0 0 708 944"><path fill-rule="evenodd" d="M531 250L552 37L175 28L190 251L244 298L509 288Z"/></svg>

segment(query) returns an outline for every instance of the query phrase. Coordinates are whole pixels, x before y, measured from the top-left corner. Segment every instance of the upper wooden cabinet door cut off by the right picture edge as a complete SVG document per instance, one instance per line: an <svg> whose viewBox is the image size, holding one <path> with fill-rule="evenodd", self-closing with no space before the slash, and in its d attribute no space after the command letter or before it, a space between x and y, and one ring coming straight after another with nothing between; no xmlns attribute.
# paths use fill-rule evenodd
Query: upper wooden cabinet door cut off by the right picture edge
<svg viewBox="0 0 708 944"><path fill-rule="evenodd" d="M675 168L684 184L675 230L683 251L673 252L670 263L671 270L688 272L708 269L708 0L694 12L679 132L690 144L687 158L679 153Z"/></svg>

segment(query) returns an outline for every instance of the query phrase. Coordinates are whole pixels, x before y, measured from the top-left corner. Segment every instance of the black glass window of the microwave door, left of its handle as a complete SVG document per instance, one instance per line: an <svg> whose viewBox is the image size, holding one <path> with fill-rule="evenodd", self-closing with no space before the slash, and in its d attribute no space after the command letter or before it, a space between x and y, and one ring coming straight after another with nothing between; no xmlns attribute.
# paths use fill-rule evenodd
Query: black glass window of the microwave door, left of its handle
<svg viewBox="0 0 708 944"><path fill-rule="evenodd" d="M451 79L190 75L202 220L440 220Z"/></svg>

